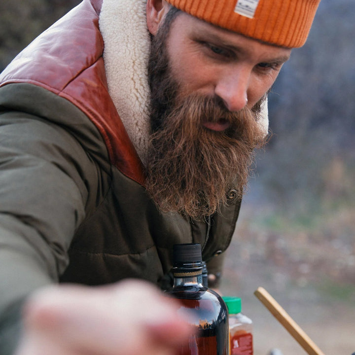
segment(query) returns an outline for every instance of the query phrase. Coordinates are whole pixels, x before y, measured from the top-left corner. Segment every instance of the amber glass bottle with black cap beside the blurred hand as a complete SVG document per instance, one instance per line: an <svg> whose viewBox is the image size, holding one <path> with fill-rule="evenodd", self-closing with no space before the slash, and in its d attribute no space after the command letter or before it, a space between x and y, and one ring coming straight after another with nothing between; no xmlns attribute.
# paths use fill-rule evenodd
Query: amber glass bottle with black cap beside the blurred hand
<svg viewBox="0 0 355 355"><path fill-rule="evenodd" d="M178 244L173 250L174 286L166 291L187 309L195 327L178 355L228 355L228 311L223 299L202 284L200 244Z"/></svg>

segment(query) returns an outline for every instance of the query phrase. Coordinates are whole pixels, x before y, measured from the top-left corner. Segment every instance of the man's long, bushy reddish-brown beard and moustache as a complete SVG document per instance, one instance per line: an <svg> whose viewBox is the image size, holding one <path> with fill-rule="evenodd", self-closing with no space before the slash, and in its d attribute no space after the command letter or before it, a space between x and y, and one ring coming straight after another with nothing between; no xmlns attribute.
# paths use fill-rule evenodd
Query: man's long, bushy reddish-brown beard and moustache
<svg viewBox="0 0 355 355"><path fill-rule="evenodd" d="M145 187L160 211L204 220L227 205L230 190L239 199L244 194L254 148L265 143L257 122L262 100L252 109L230 112L216 97L182 93L159 33L148 72L152 133ZM216 132L205 122L228 122L229 127Z"/></svg>

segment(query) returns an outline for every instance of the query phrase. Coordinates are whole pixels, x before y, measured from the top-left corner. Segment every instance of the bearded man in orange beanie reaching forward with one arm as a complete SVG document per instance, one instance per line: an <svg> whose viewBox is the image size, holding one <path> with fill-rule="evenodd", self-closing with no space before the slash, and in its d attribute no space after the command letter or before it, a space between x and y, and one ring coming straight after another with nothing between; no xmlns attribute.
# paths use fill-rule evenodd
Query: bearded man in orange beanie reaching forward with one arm
<svg viewBox="0 0 355 355"><path fill-rule="evenodd" d="M21 334L19 355L173 352L176 305L112 283L165 289L194 242L218 285L266 93L318 2L84 0L3 71L1 354Z"/></svg>

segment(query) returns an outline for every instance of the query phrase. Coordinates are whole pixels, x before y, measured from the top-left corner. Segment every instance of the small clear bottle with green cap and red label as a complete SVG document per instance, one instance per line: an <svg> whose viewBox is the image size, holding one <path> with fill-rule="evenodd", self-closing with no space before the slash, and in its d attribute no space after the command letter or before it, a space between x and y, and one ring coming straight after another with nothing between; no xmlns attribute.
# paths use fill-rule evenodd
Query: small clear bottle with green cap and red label
<svg viewBox="0 0 355 355"><path fill-rule="evenodd" d="M242 313L239 297L222 297L228 308L230 355L252 355L252 320Z"/></svg>

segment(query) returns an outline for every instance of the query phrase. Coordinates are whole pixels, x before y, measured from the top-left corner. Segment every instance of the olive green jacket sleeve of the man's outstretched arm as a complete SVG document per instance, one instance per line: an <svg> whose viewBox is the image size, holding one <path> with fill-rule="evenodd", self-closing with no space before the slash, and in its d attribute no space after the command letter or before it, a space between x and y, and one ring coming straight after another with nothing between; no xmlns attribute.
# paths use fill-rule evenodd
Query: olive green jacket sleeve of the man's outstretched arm
<svg viewBox="0 0 355 355"><path fill-rule="evenodd" d="M59 99L60 104L66 101ZM0 102L2 355L12 354L16 344L23 300L36 288L57 282L64 272L74 232L95 208L100 180L96 160L65 124L20 106ZM59 107L54 101L57 121Z"/></svg>

